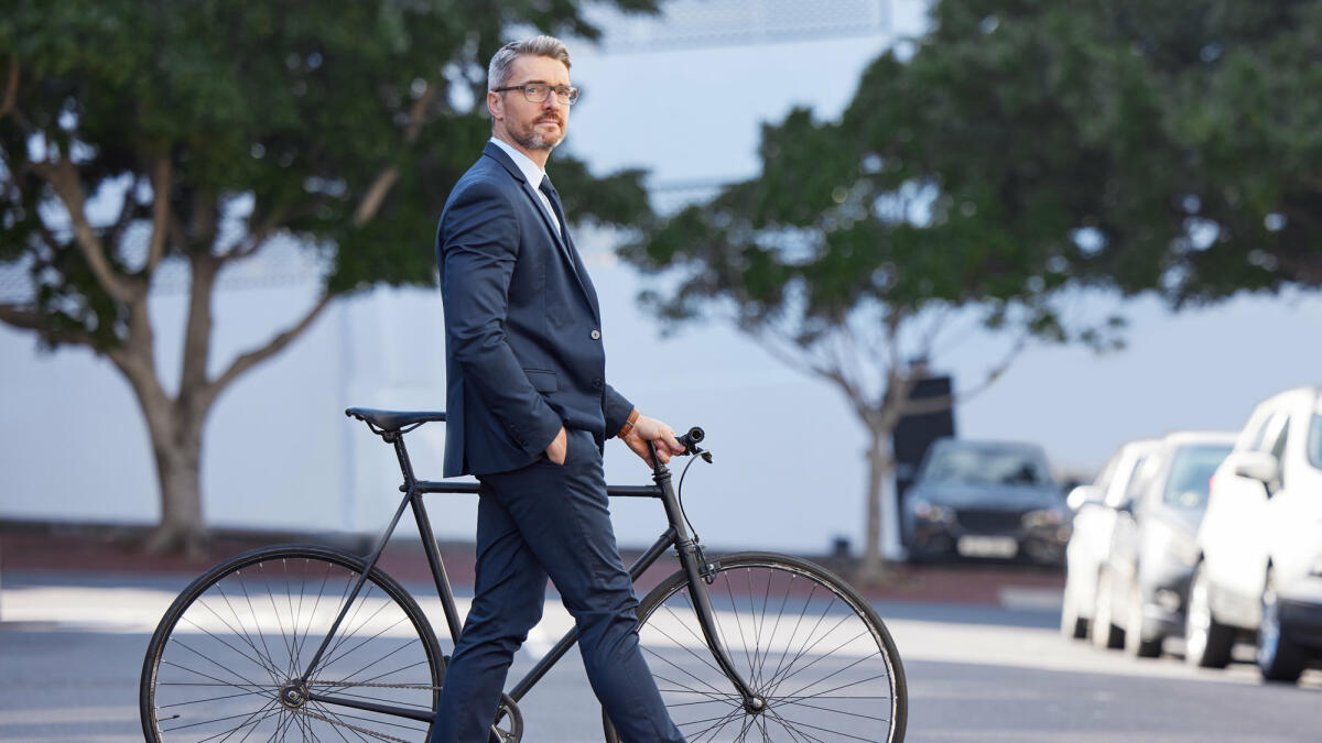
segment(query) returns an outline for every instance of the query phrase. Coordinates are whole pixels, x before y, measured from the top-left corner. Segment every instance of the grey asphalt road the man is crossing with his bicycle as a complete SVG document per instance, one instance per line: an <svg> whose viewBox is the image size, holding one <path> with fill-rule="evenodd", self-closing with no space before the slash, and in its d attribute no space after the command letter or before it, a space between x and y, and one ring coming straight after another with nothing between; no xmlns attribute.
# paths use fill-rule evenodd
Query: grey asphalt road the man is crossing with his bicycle
<svg viewBox="0 0 1322 743"><path fill-rule="evenodd" d="M137 677L151 628L184 580L7 574L0 591L0 740L141 740ZM910 685L911 742L1315 742L1322 672L1264 685L1247 664L1196 672L1060 637L1048 608L882 604ZM530 637L545 648L568 621ZM520 658L526 668L527 657ZM516 669L517 673L518 669ZM525 740L600 740L576 656L524 701Z"/></svg>

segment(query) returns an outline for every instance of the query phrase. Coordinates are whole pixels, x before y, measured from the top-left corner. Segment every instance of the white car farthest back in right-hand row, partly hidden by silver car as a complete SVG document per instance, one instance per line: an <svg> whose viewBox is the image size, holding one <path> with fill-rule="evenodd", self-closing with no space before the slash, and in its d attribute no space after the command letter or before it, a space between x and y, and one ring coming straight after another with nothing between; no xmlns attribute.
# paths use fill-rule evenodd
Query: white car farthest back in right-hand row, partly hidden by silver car
<svg viewBox="0 0 1322 743"><path fill-rule="evenodd" d="M1097 599L1097 576L1110 553L1110 533L1116 510L1129 497L1144 459L1157 447L1154 439L1129 442L1107 460L1091 485L1069 490L1066 500L1073 516L1073 529L1066 546L1066 590L1060 606L1060 632L1081 640L1088 636Z"/></svg>

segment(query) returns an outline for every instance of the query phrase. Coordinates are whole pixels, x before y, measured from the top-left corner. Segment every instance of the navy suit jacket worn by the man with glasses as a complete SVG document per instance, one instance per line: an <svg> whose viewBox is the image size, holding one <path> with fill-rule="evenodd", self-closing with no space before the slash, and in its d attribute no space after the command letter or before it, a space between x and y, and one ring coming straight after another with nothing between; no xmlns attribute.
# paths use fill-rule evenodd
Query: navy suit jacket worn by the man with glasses
<svg viewBox="0 0 1322 743"><path fill-rule="evenodd" d="M526 467L561 426L602 444L633 410L605 383L596 290L538 185L486 143L440 215L446 477Z"/></svg>

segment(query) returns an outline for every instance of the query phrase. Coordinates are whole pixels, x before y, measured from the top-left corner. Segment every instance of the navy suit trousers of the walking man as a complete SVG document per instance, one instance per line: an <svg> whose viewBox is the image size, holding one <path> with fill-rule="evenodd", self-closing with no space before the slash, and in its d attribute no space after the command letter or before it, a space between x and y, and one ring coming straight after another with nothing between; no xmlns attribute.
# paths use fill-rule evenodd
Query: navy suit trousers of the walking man
<svg viewBox="0 0 1322 743"><path fill-rule="evenodd" d="M542 617L547 578L574 616L588 682L620 738L682 742L639 649L637 599L592 435L568 431L563 467L543 457L479 480L476 595L446 670L431 743L486 743L514 652Z"/></svg>

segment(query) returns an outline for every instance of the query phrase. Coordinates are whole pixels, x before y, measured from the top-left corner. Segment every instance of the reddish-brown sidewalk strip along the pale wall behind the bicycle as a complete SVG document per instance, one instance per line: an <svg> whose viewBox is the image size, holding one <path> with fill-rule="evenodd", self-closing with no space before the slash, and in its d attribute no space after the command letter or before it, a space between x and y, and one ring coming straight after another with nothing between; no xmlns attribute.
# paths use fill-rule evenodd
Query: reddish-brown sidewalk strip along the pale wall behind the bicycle
<svg viewBox="0 0 1322 743"><path fill-rule="evenodd" d="M184 555L153 555L139 546L140 529L91 526L3 525L0 528L0 584L5 575L24 572L29 576L58 574L103 575L201 575L213 565L256 547L278 543L319 543L352 554L366 554L369 539L352 535L218 533L206 555L189 559ZM442 559L456 590L473 583L473 547L463 542L442 542ZM640 550L624 550L625 563ZM850 566L821 555L802 555L837 574L847 575ZM381 567L403 583L428 583L431 574L418 542L391 543L381 558ZM676 568L674 561L662 558L639 582L640 595ZM948 563L892 566L884 584L861 587L874 602L919 602L999 606L1003 608L1055 611L1060 606L1064 574L1059 570L1027 565Z"/></svg>

